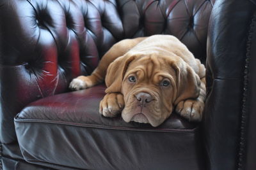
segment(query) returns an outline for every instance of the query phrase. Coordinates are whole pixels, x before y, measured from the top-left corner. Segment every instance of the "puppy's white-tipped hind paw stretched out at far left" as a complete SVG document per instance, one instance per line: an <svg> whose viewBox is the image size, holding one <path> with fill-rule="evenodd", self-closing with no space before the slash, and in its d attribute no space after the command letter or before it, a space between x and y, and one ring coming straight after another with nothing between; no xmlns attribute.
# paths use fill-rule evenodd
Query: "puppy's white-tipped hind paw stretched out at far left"
<svg viewBox="0 0 256 170"><path fill-rule="evenodd" d="M89 87L91 80L86 76L79 76L74 78L69 84L69 89L71 90L81 90Z"/></svg>

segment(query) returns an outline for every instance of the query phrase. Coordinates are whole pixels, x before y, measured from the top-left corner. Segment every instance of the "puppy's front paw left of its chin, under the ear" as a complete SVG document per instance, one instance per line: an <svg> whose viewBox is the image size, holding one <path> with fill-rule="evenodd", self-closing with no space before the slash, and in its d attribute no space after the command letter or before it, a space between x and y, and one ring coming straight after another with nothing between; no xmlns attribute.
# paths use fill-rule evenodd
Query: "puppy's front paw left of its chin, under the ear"
<svg viewBox="0 0 256 170"><path fill-rule="evenodd" d="M124 96L120 93L109 93L100 101L100 114L104 117L115 117L124 108Z"/></svg>

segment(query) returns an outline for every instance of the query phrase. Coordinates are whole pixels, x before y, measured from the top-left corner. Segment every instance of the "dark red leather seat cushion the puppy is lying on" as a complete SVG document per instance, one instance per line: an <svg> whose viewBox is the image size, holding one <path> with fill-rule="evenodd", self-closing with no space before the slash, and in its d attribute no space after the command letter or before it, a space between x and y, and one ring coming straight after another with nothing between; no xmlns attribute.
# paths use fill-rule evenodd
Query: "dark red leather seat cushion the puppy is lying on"
<svg viewBox="0 0 256 170"><path fill-rule="evenodd" d="M197 124L175 113L159 127L102 117L105 89L45 97L24 108L15 117L24 159L57 169L202 168Z"/></svg>

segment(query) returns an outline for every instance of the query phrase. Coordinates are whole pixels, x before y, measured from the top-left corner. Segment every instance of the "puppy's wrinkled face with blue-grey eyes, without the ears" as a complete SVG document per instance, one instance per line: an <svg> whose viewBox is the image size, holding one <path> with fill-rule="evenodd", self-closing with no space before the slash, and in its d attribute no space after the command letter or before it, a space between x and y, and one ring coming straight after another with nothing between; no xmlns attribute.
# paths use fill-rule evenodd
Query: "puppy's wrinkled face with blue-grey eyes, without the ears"
<svg viewBox="0 0 256 170"><path fill-rule="evenodd" d="M163 123L173 110L176 80L175 70L159 56L133 60L122 81L125 122L149 123L154 127Z"/></svg>

